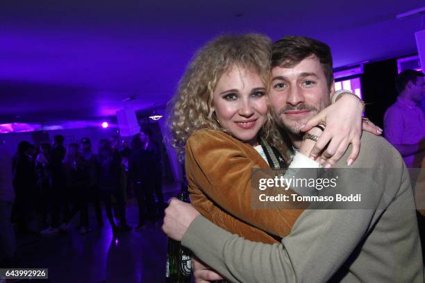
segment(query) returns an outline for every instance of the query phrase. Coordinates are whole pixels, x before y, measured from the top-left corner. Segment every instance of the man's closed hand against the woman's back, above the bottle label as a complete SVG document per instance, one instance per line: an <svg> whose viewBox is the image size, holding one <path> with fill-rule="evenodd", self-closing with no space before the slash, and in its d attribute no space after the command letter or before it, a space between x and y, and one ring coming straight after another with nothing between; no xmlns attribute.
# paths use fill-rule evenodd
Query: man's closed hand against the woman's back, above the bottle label
<svg viewBox="0 0 425 283"><path fill-rule="evenodd" d="M199 212L189 203L171 198L167 209L165 209L163 232L168 237L181 241L190 223L199 215Z"/></svg>

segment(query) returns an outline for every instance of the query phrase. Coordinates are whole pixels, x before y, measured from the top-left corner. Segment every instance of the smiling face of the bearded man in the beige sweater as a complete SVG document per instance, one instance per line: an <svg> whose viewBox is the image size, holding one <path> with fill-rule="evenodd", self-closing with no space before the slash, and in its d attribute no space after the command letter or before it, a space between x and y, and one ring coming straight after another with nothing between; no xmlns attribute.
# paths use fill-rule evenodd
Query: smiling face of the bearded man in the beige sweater
<svg viewBox="0 0 425 283"><path fill-rule="evenodd" d="M314 55L294 67L274 67L269 99L276 123L299 135L301 126L331 104L333 89Z"/></svg>

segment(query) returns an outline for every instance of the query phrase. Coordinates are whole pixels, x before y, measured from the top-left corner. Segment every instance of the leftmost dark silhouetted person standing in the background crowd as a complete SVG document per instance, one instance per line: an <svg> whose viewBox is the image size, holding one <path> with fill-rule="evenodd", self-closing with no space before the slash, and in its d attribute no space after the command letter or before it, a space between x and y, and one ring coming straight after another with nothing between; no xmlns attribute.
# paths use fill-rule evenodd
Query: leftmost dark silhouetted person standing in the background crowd
<svg viewBox="0 0 425 283"><path fill-rule="evenodd" d="M35 170L32 157L33 146L28 141L18 144L17 153L12 158L13 187L15 188L15 204L12 219L19 232L28 232L29 223L35 210Z"/></svg>

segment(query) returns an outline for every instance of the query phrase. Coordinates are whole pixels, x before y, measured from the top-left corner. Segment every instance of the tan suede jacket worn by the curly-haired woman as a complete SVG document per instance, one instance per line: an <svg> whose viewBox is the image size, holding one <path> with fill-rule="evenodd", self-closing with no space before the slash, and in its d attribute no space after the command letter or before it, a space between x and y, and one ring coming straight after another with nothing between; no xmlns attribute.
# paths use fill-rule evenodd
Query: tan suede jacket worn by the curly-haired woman
<svg viewBox="0 0 425 283"><path fill-rule="evenodd" d="M302 209L253 209L251 169L269 165L255 148L225 132L199 130L186 144L192 205L208 220L251 241L279 243ZM272 237L274 235L276 237Z"/></svg>

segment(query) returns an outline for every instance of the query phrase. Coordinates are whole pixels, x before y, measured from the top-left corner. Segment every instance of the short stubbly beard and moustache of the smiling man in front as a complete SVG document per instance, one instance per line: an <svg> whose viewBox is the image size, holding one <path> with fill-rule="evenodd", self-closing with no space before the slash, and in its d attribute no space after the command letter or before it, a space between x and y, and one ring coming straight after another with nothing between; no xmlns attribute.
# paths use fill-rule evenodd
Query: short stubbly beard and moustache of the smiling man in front
<svg viewBox="0 0 425 283"><path fill-rule="evenodd" d="M298 136L301 133L299 130L301 126L305 125L308 120L315 117L315 115L326 108L327 105L328 101L322 101L320 105L317 105L317 107L313 105L306 105L305 103L301 103L297 106L285 105L285 107L279 110L277 114L272 111L272 115L274 121L279 127L286 130L290 135ZM302 119L283 119L283 115L285 115L284 113L288 110L310 110L310 112L308 112L308 117L303 117Z"/></svg>

